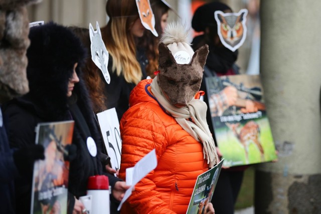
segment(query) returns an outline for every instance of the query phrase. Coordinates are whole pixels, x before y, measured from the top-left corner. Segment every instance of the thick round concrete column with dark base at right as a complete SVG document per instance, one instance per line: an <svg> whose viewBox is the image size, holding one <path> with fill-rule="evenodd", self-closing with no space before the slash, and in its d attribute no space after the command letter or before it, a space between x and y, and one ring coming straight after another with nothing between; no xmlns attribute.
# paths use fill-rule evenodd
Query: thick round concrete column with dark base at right
<svg viewBox="0 0 321 214"><path fill-rule="evenodd" d="M321 213L321 1L260 7L260 73L279 160L257 165L255 213Z"/></svg>

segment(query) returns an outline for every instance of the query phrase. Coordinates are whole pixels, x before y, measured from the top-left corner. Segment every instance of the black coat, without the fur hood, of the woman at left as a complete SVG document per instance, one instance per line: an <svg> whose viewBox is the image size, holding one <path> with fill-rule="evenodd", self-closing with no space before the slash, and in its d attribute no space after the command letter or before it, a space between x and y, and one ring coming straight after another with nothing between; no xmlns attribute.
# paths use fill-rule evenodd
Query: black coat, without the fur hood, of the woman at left
<svg viewBox="0 0 321 214"><path fill-rule="evenodd" d="M83 101L89 102L88 99ZM86 139L89 135L95 140L98 151L101 150L103 145L94 114L92 112L84 112L85 108L78 105L77 103L70 104L70 114L66 114L67 116L64 119L59 118L57 120L75 120L72 144L77 146L77 156L70 162L68 190L77 198L86 194L89 176L106 174L111 186L114 186L115 182L120 180L111 174L103 173L99 158L97 156L92 157L89 154L86 146ZM35 143L35 127L38 123L55 121L49 119L51 117L35 105L28 96L11 101L6 106L5 114L9 117L10 144L15 148L22 148ZM90 121L84 122L86 120ZM17 179L15 185L17 213L27 213L30 211L32 171L30 171L30 174L22 175ZM72 202L70 202L70 205L73 207Z"/></svg>

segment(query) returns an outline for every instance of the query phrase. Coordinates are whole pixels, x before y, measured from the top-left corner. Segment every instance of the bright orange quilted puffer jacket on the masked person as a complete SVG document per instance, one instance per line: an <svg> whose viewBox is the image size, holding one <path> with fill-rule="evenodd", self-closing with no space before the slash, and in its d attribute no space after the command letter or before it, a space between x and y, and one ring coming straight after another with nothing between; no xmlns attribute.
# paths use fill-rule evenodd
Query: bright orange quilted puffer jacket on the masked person
<svg viewBox="0 0 321 214"><path fill-rule="evenodd" d="M197 176L208 170L203 145L159 106L150 83L143 80L132 90L120 122L119 177L125 180L126 168L152 149L157 167L135 185L121 213L186 213Z"/></svg>

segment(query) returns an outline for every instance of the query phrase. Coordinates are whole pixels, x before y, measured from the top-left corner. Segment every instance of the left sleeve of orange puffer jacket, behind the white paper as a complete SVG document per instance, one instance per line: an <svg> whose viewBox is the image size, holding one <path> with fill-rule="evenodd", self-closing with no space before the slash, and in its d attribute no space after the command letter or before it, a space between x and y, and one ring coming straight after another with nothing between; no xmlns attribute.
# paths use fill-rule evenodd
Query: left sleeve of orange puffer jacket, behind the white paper
<svg viewBox="0 0 321 214"><path fill-rule="evenodd" d="M120 133L122 152L119 177L124 180L126 168L133 167L152 149L156 150L158 161L167 146L166 127L162 119L144 104L133 106L124 114ZM135 185L135 191L125 203L136 213L175 213L156 190L153 173L152 170Z"/></svg>

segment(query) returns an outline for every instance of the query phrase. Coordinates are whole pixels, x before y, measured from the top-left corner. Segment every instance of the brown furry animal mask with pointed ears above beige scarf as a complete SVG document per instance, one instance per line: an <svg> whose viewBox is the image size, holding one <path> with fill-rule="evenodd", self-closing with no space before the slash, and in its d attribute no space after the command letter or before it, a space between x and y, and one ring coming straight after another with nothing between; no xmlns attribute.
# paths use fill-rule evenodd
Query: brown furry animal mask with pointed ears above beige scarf
<svg viewBox="0 0 321 214"><path fill-rule="evenodd" d="M172 52L159 44L158 85L168 101L176 107L187 106L200 90L203 68L209 53L208 46L202 46L188 64L178 64Z"/></svg>

